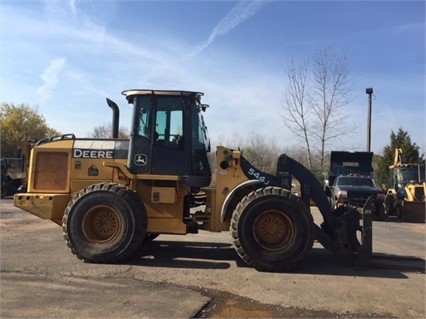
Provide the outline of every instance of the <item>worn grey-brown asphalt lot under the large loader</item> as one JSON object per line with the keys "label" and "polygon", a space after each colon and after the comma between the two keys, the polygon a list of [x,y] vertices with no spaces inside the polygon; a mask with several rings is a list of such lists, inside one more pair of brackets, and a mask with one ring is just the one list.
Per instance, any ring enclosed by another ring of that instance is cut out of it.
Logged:
{"label": "worn grey-brown asphalt lot under the large loader", "polygon": [[[258,272],[227,232],[161,235],[141,258],[99,265],[71,254],[58,225],[2,199],[0,317],[191,318],[210,309],[206,316],[424,318],[425,235],[425,224],[374,222],[366,269],[315,244],[294,273]],[[214,304],[215,295],[226,298]]]}

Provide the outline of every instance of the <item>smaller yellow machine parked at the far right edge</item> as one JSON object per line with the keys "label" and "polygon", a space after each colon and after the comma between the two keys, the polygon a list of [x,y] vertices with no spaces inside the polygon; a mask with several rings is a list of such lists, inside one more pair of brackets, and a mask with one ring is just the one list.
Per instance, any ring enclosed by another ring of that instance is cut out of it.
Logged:
{"label": "smaller yellow machine parked at the far right edge", "polygon": [[402,163],[402,149],[395,149],[394,163],[389,166],[392,174],[392,188],[385,197],[386,213],[407,222],[424,223],[425,206],[425,165],[424,163]]}

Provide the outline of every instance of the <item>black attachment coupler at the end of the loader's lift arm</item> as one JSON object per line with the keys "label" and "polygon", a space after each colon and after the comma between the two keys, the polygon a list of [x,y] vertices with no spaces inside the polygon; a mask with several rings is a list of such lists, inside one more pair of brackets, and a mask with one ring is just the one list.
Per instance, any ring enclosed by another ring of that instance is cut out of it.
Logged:
{"label": "black attachment coupler at the end of the loader's lift arm", "polygon": [[345,207],[334,228],[333,251],[356,267],[368,265],[373,254],[372,203],[370,197],[362,209]]}

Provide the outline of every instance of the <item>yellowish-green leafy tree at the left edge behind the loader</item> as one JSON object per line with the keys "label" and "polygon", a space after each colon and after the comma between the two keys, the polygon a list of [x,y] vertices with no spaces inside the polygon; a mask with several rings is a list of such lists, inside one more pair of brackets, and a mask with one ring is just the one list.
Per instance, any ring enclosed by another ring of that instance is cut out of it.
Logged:
{"label": "yellowish-green leafy tree at the left edge behind the loader", "polygon": [[24,140],[40,140],[60,133],[47,126],[44,117],[28,104],[1,102],[1,157],[17,157]]}

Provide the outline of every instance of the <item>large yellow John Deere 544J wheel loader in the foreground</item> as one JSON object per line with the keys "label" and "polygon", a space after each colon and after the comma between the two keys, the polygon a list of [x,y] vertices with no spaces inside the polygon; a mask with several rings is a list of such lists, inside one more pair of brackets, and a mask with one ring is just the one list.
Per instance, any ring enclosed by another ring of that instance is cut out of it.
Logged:
{"label": "large yellow John Deere 544J wheel loader in the foreground", "polygon": [[[216,149],[215,186],[200,92],[128,90],[130,140],[66,134],[31,150],[28,192],[14,203],[62,226],[66,244],[87,262],[135,257],[159,234],[230,231],[238,255],[262,271],[294,269],[314,240],[349,261],[371,257],[371,211],[331,211],[322,185],[283,154],[275,175],[253,167],[239,150]],[[301,184],[291,194],[292,178]],[[314,224],[310,200],[324,221]],[[360,239],[359,239],[360,238]]]}

